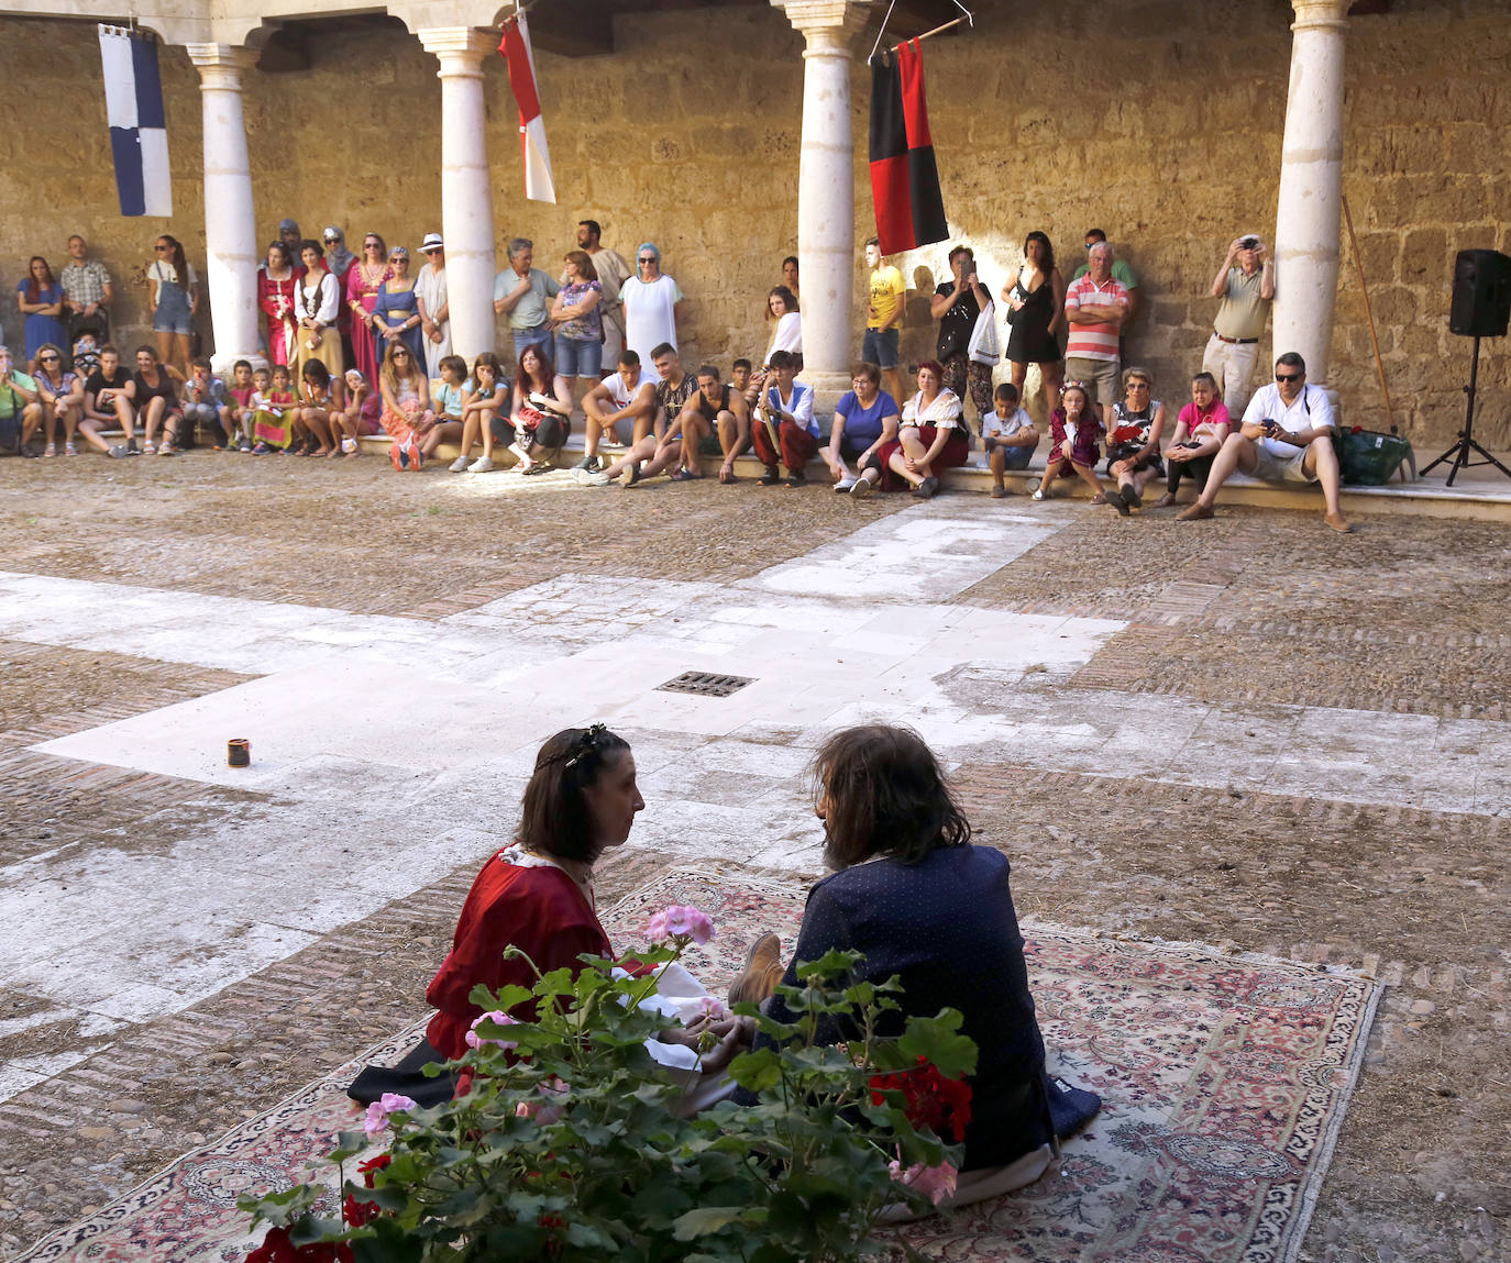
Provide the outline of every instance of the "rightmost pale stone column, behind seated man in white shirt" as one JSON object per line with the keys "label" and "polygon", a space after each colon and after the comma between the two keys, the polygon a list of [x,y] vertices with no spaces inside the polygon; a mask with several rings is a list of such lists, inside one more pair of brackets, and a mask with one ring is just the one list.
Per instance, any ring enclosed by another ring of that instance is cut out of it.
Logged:
{"label": "rightmost pale stone column, behind seated man in white shirt", "polygon": [[1275,213],[1275,355],[1324,385],[1342,249],[1343,41],[1349,0],[1292,0],[1290,95]]}

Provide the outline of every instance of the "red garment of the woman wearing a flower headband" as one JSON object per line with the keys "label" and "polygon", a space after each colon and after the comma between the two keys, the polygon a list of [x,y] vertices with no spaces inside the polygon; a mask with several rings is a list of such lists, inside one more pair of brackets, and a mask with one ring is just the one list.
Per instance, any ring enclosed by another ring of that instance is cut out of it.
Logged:
{"label": "red garment of the woman wearing a flower headband", "polygon": [[[425,991],[437,1009],[426,1027],[431,1047],[446,1058],[467,1051],[465,1036],[482,1014],[467,996],[479,982],[497,990],[509,984],[532,987],[535,973],[523,959],[503,959],[514,946],[529,953],[541,973],[567,967],[576,973],[577,956],[613,955],[598,917],[561,869],[523,869],[505,863],[499,851],[473,881],[456,922],[452,950]],[[533,1002],[518,1014],[533,1020]]]}

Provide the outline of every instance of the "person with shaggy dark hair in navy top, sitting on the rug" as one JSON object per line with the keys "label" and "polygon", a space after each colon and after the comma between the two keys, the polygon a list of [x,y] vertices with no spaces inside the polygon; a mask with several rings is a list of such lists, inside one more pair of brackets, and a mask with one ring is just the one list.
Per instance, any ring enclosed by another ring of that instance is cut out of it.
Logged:
{"label": "person with shaggy dark hair in navy top, sitting on the rug", "polygon": [[[1049,1166],[1056,1132],[1074,1130],[1100,1101],[1068,1085],[1052,1088],[1044,1077],[1044,1039],[1006,857],[970,845],[970,822],[932,751],[910,728],[846,728],[819,748],[813,766],[823,861],[836,872],[808,893],[793,964],[781,980],[798,985],[798,961],[855,950],[866,955],[855,982],[885,982],[893,974],[902,980],[902,1008],[882,1014],[882,1036],[901,1035],[908,1015],[958,1009],[978,1061],[955,1203],[1037,1180]],[[760,947],[752,955],[762,955]],[[768,1014],[784,1023],[801,1020],[781,996],[772,997]],[[757,1048],[763,1038],[757,1036]],[[840,1029],[819,1036],[820,1042],[846,1038]],[[1052,1091],[1059,1098],[1053,1115]]]}

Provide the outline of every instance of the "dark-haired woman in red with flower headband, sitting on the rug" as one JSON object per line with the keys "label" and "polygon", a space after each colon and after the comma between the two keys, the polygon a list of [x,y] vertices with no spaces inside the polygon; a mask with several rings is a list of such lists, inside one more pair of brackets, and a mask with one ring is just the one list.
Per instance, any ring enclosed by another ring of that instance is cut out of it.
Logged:
{"label": "dark-haired woman in red with flower headband, sitting on the rug", "polygon": [[[482,866],[462,903],[452,950],[425,991],[435,1009],[425,1039],[391,1070],[367,1067],[348,1095],[364,1104],[384,1092],[403,1092],[420,1104],[447,1100],[455,1077],[426,1079],[422,1070],[467,1053],[467,1032],[484,1012],[468,999],[479,982],[494,991],[533,987],[535,968],[576,974],[583,953],[613,956],[592,897],[592,866],[624,845],[644,808],[624,737],[601,724],[550,737],[524,787],[518,835]],[[523,956],[506,959],[508,947],[524,952],[533,967]],[[530,1021],[533,1009],[535,1002],[526,1000],[517,1015]],[[704,1055],[706,1076],[727,1065],[743,1039],[734,1020],[710,1029],[722,1042]],[[663,1030],[660,1039],[695,1047],[698,1035],[695,1027],[678,1027]]]}

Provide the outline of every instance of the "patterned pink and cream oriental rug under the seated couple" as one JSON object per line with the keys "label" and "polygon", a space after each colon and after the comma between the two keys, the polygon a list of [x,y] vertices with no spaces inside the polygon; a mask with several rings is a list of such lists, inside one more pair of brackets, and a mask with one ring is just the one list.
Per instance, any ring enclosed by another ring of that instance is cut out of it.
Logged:
{"label": "patterned pink and cream oriental rug under the seated couple", "polygon": [[[603,916],[616,947],[668,903],[716,937],[686,964],[721,991],[756,935],[790,949],[805,887],[716,864],[668,872]],[[1024,922],[1050,1068],[1103,1112],[1035,1184],[891,1230],[940,1260],[1293,1263],[1358,1077],[1380,988],[1318,965],[1200,944],[1098,937]],[[23,1260],[240,1263],[254,1240],[236,1200],[337,1178],[320,1159],[357,1126],[346,1085],[397,1062],[416,1023],[79,1224]],[[20,1263],[20,1260],[18,1260]]]}

